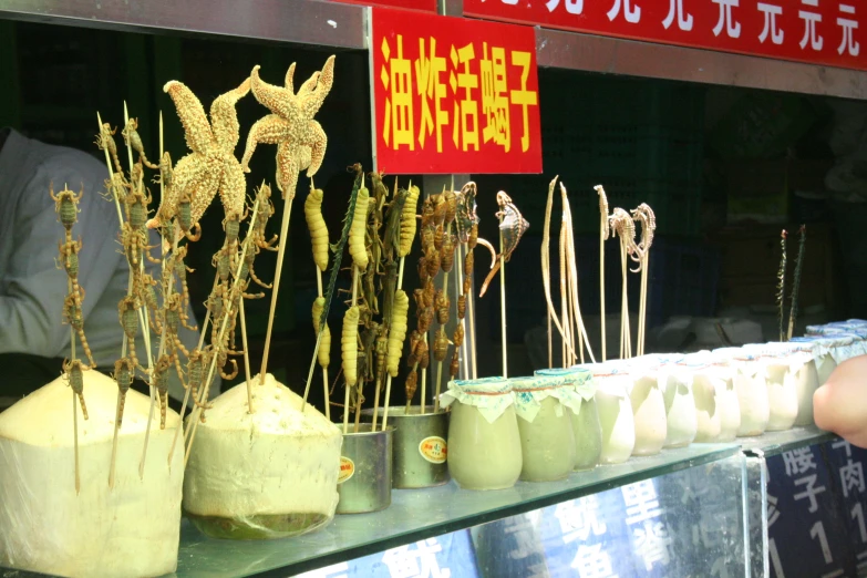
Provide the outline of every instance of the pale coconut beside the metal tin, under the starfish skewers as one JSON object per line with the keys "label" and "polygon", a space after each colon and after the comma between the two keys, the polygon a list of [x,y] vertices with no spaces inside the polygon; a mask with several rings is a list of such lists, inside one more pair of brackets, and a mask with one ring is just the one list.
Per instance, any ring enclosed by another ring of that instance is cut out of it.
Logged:
{"label": "pale coconut beside the metal tin, under the starfish skewers", "polygon": [[184,509],[206,534],[276,538],[334,515],[340,430],[267,374],[223,393],[198,424],[184,481]]}

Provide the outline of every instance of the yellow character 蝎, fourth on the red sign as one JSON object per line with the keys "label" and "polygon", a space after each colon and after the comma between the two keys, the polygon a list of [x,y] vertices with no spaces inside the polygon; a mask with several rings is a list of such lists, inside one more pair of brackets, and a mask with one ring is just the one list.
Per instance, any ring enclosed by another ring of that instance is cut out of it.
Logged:
{"label": "yellow character \u874e, fourth on the red sign", "polygon": [[482,114],[485,115],[482,137],[486,143],[493,140],[508,153],[512,148],[512,131],[505,49],[492,47],[491,58],[488,58],[487,42],[483,42],[481,69]]}

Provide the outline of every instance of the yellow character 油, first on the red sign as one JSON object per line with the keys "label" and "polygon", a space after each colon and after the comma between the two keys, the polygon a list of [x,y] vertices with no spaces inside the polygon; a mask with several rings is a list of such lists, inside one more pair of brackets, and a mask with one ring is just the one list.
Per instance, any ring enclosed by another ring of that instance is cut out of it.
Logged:
{"label": "yellow character \u6cb9, first on the red sign", "polygon": [[415,151],[412,112],[412,65],[403,58],[403,37],[398,34],[398,54],[391,58],[388,39],[382,39],[382,55],[385,65],[380,71],[382,85],[389,91],[385,99],[385,118],[382,137],[385,146],[395,151],[402,145]]}

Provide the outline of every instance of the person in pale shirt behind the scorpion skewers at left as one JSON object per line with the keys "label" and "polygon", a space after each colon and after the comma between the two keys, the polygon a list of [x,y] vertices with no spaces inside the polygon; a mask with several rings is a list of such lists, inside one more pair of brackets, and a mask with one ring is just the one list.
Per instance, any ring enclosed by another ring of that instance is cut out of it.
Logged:
{"label": "person in pale shirt behind the scorpion skewers at left", "polygon": [[[54,380],[70,354],[70,328],[61,323],[66,273],[56,265],[64,230],[49,196],[52,186],[55,193],[64,185],[84,192],[72,230],[82,241],[84,333],[100,371],[113,371],[121,355],[117,303],[126,296],[130,269],[118,240],[117,210],[101,194],[106,179],[105,165],[86,153],[0,131],[0,398],[20,398]],[[158,245],[158,235],[149,235],[149,245]],[[145,262],[159,279],[159,266]],[[187,314],[195,322],[192,309]],[[179,338],[187,349],[198,344],[197,332],[180,328]],[[144,364],[141,331],[135,349]],[[184,396],[174,372],[168,392],[175,400]],[[211,392],[219,392],[219,382]]]}

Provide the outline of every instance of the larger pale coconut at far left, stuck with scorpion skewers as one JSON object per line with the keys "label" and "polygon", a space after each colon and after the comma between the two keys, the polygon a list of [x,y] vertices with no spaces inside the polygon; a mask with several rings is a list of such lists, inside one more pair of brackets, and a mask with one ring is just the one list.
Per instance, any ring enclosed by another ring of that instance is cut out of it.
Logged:
{"label": "larger pale coconut at far left, stuck with scorpion skewers", "polygon": [[89,420],[79,412],[81,492],[75,493],[72,390],[58,378],[0,414],[0,566],[69,577],[148,577],[177,568],[183,450],[179,426],[154,412],[144,478],[138,475],[151,400],[130,391],[109,473],[117,385],[84,372]]}

